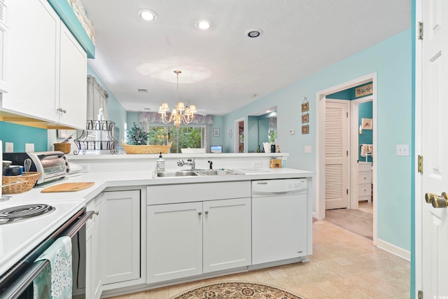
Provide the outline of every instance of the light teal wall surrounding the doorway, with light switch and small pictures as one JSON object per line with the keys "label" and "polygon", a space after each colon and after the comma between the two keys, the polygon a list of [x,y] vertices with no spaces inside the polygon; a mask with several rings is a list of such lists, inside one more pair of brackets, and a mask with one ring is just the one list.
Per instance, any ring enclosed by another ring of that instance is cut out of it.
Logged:
{"label": "light teal wall surrounding the doorway, with light switch and small pictures", "polygon": [[[316,92],[377,72],[378,230],[384,242],[411,249],[412,156],[398,157],[397,144],[412,144],[412,37],[411,29],[366,48],[301,81],[262,97],[224,116],[226,130],[235,120],[277,106],[277,141],[290,153],[287,167],[316,171]],[[300,104],[309,101],[309,134],[301,134]],[[289,134],[294,129],[295,134]],[[225,150],[233,151],[232,138]],[[304,153],[311,146],[312,153]]]}

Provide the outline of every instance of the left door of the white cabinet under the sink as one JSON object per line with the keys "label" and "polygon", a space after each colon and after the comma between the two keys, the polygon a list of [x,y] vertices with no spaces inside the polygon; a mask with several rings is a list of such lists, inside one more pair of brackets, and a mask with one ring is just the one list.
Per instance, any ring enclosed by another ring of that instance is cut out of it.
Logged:
{"label": "left door of the white cabinet under the sink", "polygon": [[202,274],[202,202],[147,209],[148,284]]}

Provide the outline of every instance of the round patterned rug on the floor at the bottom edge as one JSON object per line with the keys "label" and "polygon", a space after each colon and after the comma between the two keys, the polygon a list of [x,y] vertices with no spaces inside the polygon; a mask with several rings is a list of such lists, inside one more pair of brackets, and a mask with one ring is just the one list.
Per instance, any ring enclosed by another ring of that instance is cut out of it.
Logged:
{"label": "round patterned rug on the floor at the bottom edge", "polygon": [[251,282],[220,282],[200,286],[172,299],[304,299],[288,291]]}

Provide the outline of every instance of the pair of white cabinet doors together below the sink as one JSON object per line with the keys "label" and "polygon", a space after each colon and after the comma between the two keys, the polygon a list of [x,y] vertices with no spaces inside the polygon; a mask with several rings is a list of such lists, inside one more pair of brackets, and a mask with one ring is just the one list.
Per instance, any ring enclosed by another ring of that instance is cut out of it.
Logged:
{"label": "pair of white cabinet doors together below the sink", "polygon": [[148,284],[251,264],[251,198],[148,206]]}

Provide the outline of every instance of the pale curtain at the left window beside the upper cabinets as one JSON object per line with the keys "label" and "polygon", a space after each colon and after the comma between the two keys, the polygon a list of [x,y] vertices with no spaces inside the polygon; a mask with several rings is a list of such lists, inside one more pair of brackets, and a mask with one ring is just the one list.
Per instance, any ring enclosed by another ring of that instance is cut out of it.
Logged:
{"label": "pale curtain at the left window beside the upper cabinets", "polygon": [[109,93],[99,85],[97,79],[87,76],[87,120],[109,120],[107,103]]}

